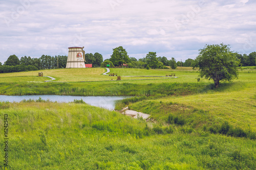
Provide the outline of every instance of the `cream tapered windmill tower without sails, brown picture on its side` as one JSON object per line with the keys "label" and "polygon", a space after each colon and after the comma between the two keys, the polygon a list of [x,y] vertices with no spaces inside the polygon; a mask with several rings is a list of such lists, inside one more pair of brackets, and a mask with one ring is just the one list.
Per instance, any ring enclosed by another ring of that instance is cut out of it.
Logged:
{"label": "cream tapered windmill tower without sails, brown picture on its side", "polygon": [[83,47],[69,47],[69,55],[66,68],[86,68],[84,65],[85,52]]}

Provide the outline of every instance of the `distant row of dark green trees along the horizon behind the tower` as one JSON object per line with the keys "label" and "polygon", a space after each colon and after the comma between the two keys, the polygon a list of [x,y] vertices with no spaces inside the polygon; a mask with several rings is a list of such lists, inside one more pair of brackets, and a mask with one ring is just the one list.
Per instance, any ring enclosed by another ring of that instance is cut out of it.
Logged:
{"label": "distant row of dark green trees along the horizon behind the tower", "polygon": [[[256,52],[247,54],[236,54],[236,58],[240,61],[239,66],[255,66],[256,65]],[[0,62],[1,72],[18,72],[18,71],[31,71],[40,69],[56,69],[66,68],[67,56],[48,56],[42,55],[40,58],[31,58],[30,56],[21,57],[20,60],[16,55],[11,55],[7,61],[2,65]],[[170,66],[172,69],[176,69],[177,66],[193,67],[195,60],[187,59],[185,62],[176,61],[174,57],[168,60],[166,57],[157,57],[156,52],[148,52],[145,57],[136,59],[129,57],[126,50],[122,47],[116,47],[113,49],[113,54],[110,59],[106,59],[103,62],[103,57],[99,53],[88,53],[85,55],[86,64],[93,64],[93,67],[120,67],[123,64],[127,64],[129,68],[160,68],[166,69]]]}

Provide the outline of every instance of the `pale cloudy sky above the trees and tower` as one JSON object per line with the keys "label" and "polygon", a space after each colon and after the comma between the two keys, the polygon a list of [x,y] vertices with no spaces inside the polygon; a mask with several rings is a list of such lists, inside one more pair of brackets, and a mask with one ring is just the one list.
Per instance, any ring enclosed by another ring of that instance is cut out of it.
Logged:
{"label": "pale cloudy sky above the trees and tower", "polygon": [[148,52],[195,59],[206,44],[256,51],[254,0],[0,0],[0,62],[10,55],[68,55],[68,47],[110,58]]}

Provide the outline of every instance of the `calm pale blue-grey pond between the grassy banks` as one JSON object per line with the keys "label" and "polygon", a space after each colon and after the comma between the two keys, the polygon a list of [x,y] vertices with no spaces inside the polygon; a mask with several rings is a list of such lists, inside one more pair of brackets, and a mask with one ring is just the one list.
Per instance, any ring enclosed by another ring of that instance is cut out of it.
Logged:
{"label": "calm pale blue-grey pond between the grassy banks", "polygon": [[72,95],[0,95],[0,101],[21,102],[22,100],[50,100],[58,103],[74,102],[83,100],[89,105],[102,107],[109,110],[114,110],[117,101],[129,98],[129,96],[72,96]]}

